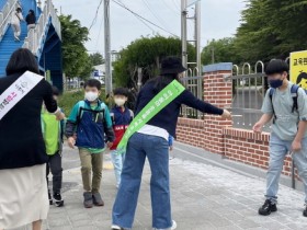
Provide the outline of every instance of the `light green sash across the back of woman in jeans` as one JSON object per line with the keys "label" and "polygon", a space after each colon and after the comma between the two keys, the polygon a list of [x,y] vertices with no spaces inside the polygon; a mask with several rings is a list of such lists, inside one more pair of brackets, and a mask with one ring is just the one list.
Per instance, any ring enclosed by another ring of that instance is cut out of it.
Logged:
{"label": "light green sash across the back of woman in jeans", "polygon": [[129,138],[154,116],[156,116],[162,108],[164,108],[175,97],[178,97],[184,90],[185,89],[181,83],[179,83],[177,80],[173,80],[161,92],[159,92],[134,118],[123,139],[117,146],[117,152],[124,153],[126,151]]}

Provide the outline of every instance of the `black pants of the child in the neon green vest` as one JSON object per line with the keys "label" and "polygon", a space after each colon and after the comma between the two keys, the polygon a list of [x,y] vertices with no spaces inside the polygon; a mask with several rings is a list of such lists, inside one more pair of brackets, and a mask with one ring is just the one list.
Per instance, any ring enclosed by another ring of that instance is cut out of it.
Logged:
{"label": "black pants of the child in the neon green vest", "polygon": [[54,156],[49,156],[47,162],[47,184],[49,183],[49,172],[53,174],[53,192],[54,194],[60,193],[61,181],[62,181],[62,169],[61,169],[61,156],[57,152]]}

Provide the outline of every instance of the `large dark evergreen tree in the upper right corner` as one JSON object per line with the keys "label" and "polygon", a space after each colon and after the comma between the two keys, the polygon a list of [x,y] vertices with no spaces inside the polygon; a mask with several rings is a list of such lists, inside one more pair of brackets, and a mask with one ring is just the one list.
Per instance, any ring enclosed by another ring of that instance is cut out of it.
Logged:
{"label": "large dark evergreen tree in the upper right corner", "polygon": [[286,58],[307,48],[306,0],[249,0],[235,47],[241,59]]}

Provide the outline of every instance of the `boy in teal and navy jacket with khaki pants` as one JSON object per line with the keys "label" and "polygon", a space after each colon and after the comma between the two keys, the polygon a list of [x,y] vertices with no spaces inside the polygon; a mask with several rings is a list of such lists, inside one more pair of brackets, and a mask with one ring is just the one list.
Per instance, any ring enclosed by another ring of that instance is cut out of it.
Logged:
{"label": "boy in teal and navy jacket with khaki pants", "polygon": [[[67,120],[66,136],[70,148],[79,149],[86,208],[104,206],[100,194],[102,161],[105,143],[114,141],[112,120],[107,106],[99,100],[101,83],[90,79],[84,83],[84,100],[78,102]],[[77,139],[76,139],[77,135]],[[104,138],[106,136],[106,138]],[[93,175],[92,175],[93,173]]]}

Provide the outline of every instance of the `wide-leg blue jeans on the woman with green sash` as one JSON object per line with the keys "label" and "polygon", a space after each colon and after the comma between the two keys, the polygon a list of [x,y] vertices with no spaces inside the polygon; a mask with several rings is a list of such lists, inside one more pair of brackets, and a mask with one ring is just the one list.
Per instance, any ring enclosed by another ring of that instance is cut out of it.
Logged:
{"label": "wide-leg blue jeans on the woman with green sash", "polygon": [[151,169],[152,227],[168,229],[172,226],[169,145],[161,137],[138,133],[134,134],[128,141],[122,183],[113,207],[113,225],[128,229],[133,227],[146,157]]}

